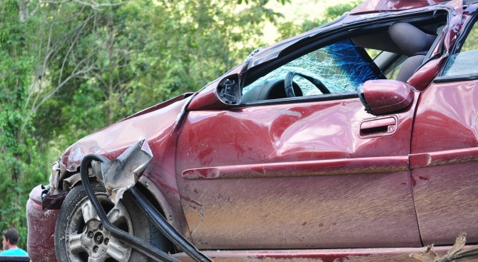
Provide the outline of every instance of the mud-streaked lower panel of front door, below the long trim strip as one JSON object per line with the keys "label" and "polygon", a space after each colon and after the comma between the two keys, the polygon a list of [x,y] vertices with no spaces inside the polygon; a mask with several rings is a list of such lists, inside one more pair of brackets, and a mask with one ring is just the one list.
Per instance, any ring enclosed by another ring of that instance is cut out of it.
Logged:
{"label": "mud-streaked lower panel of front door, below the long trim strip", "polygon": [[198,248],[420,246],[408,172],[188,182]]}

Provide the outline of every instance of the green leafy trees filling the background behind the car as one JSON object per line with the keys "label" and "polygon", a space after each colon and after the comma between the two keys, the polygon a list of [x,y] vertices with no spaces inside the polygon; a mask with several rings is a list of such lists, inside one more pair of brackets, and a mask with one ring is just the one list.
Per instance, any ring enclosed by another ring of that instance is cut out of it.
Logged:
{"label": "green leafy trees filling the background behind the car", "polygon": [[266,22],[285,37],[326,21],[283,23],[268,1],[0,1],[0,228],[25,247],[29,191],[78,138],[197,91],[263,45]]}

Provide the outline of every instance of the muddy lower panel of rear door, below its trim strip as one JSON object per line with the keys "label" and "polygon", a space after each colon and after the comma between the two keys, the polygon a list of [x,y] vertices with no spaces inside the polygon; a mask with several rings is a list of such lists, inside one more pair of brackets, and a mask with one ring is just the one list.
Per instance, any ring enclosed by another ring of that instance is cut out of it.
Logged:
{"label": "muddy lower panel of rear door, below its trim strip", "polygon": [[424,245],[451,245],[461,232],[478,243],[478,162],[412,170],[414,198]]}

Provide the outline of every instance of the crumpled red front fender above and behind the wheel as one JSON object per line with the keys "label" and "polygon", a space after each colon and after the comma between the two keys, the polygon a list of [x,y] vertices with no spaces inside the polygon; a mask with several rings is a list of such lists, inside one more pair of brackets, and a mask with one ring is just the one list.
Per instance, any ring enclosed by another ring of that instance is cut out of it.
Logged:
{"label": "crumpled red front fender above and behind the wheel", "polygon": [[174,157],[177,138],[175,130],[180,125],[180,117],[188,101],[190,99],[176,101],[162,109],[126,119],[86,136],[66,150],[61,157],[61,164],[69,171],[76,171],[83,156],[88,153],[115,159],[138,138],[146,138],[153,158],[143,173],[147,179],[141,179],[140,183],[143,182],[148,191],[156,192],[153,193],[156,201],[173,222],[173,226],[184,235],[188,231],[180,229],[183,228],[180,225],[185,225],[185,218],[179,204]]}

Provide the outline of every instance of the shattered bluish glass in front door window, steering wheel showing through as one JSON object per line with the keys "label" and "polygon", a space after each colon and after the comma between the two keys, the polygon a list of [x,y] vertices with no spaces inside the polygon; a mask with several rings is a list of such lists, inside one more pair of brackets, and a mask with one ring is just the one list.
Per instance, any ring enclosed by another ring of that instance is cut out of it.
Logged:
{"label": "shattered bluish glass in front door window, steering wheel showing through", "polygon": [[383,77],[365,49],[346,39],[300,56],[245,86],[242,101],[345,93]]}

